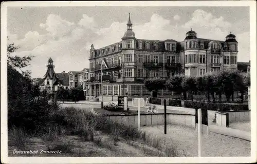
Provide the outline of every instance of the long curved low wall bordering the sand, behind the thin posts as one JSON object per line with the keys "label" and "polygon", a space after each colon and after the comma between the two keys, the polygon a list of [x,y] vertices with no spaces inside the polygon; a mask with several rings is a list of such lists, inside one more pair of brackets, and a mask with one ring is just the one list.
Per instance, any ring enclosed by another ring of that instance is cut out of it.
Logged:
{"label": "long curved low wall bordering the sand, behind the thin posts", "polygon": [[[138,126],[138,115],[104,115],[109,119],[128,126]],[[140,126],[163,125],[164,114],[141,114]],[[195,128],[195,115],[192,114],[171,114],[167,113],[167,124],[182,125]]]}

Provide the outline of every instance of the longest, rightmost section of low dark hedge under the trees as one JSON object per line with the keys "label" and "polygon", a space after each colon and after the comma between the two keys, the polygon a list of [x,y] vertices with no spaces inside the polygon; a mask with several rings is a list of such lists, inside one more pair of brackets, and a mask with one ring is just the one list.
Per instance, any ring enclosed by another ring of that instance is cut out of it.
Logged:
{"label": "longest, rightmost section of low dark hedge under the trees", "polygon": [[234,111],[242,111],[242,110],[249,110],[248,105],[243,104],[221,104],[221,103],[205,103],[205,102],[199,102],[199,101],[185,101],[185,107],[186,108],[201,108],[201,109],[207,109],[212,111],[217,111],[219,109],[220,111],[229,111],[230,109]]}

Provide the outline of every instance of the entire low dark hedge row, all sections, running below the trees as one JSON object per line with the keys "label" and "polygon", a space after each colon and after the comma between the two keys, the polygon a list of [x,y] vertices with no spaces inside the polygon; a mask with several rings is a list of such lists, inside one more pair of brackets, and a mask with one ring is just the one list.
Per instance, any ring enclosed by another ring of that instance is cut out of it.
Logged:
{"label": "entire low dark hedge row, all sections, running below the trees", "polygon": [[[152,98],[150,97],[149,103],[162,105],[162,98]],[[167,98],[167,106],[174,106],[174,107],[181,107],[181,100],[176,99],[168,99]],[[242,110],[249,110],[248,105],[245,104],[221,104],[221,103],[206,103],[206,102],[198,102],[198,101],[184,101],[183,107],[186,108],[201,108],[207,109],[212,111],[242,111]]]}

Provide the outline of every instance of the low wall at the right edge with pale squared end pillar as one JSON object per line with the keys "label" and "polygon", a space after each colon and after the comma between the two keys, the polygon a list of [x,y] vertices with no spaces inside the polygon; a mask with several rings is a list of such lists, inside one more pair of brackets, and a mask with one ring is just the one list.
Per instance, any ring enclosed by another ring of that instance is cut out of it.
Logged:
{"label": "low wall at the right edge with pale squared end pillar", "polygon": [[216,124],[222,127],[229,127],[229,122],[250,121],[251,111],[224,111],[216,112]]}

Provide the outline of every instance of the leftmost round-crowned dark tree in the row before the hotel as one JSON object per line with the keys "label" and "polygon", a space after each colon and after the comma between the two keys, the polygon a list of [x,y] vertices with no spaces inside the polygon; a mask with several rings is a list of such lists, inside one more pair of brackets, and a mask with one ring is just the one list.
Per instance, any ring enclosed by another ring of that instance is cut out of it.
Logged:
{"label": "leftmost round-crowned dark tree in the row before the hotel", "polygon": [[[155,95],[159,90],[164,89],[166,86],[166,79],[164,78],[148,78],[144,80],[144,86],[149,90],[155,92]],[[156,94],[157,95],[157,94]]]}

